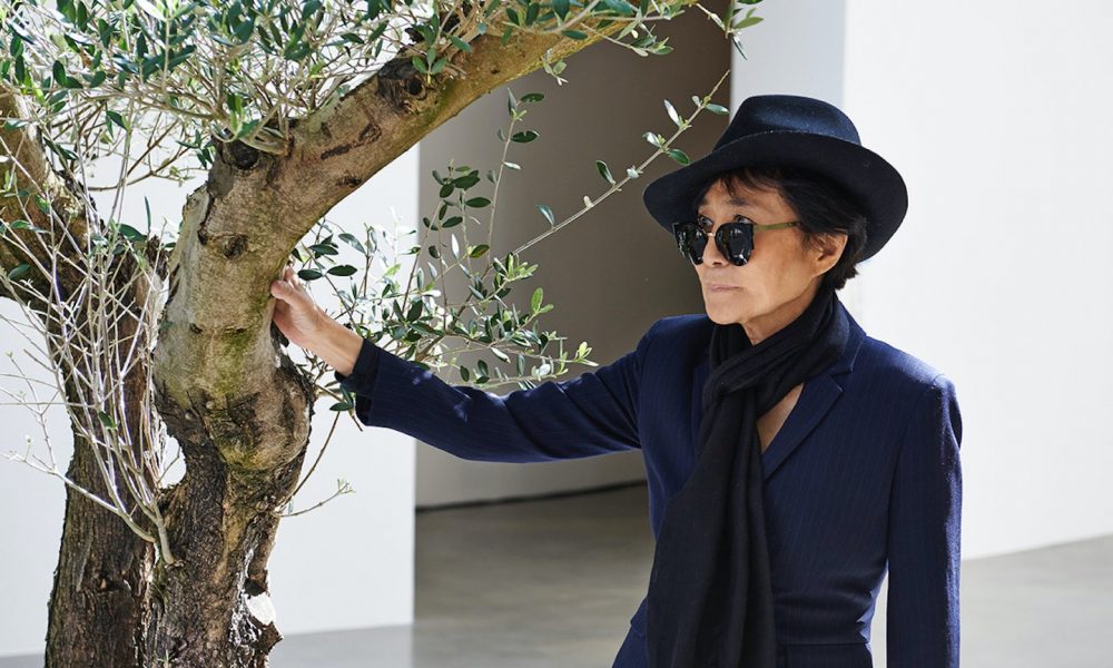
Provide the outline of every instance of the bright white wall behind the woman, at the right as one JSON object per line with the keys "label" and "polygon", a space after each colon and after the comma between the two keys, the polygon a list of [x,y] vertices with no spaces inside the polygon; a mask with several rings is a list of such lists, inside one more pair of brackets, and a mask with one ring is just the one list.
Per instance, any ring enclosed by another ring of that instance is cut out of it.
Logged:
{"label": "bright white wall behind the woman, at the right", "polygon": [[848,0],[845,102],[909,184],[864,326],[954,380],[964,556],[1113,532],[1107,3]]}

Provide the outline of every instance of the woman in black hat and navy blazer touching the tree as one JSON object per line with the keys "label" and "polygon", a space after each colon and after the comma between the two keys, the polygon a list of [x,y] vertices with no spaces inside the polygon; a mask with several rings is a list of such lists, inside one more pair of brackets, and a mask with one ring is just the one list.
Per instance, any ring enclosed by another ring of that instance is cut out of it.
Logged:
{"label": "woman in black hat and navy blazer touching the tree", "polygon": [[289,268],[275,322],[364,424],[472,460],[642,450],[657,546],[615,668],[869,667],[886,572],[888,665],[957,667],[955,387],[835,294],[900,225],[899,174],[834,106],[756,96],[644,203],[707,315],[661,318],[572,380],[449,385],[325,316]]}

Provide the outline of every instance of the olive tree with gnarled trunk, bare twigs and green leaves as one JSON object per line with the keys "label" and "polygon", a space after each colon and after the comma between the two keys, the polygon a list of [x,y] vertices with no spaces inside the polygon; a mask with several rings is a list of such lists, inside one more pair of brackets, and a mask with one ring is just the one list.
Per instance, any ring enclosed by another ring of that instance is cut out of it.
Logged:
{"label": "olive tree with gnarled trunk, bare twigs and green leaves", "polygon": [[[725,16],[695,0],[0,1],[0,295],[22,307],[11,324],[30,345],[13,357],[26,390],[4,392],[45,436],[11,458],[67,492],[47,665],[267,665],[282,638],[267,560],[313,471],[314,405],[332,397],[339,419],[354,403],[272,326],[269,284],[287,263],[328,282],[359,334],[463,382],[528,387],[590,364],[585,343],[569,356],[539,327],[540,287],[528,310],[508,305],[535,268],[520,254],[656,157],[687,163],[677,136],[705,109],[726,114],[711,94],[664,100],[674,127],[644,132],[644,163],[615,178],[597,161],[603,191],[560,222],[539,205],[549,229],[505,254],[490,233],[500,177],[521,168],[506,151],[485,173],[432,173],[441,203],[415,222],[421,238],[326,215],[503,84],[541,68],[559,78],[565,57],[603,40],[668,53],[653,21],[689,9],[740,48],[756,1]],[[536,137],[519,124],[541,99],[509,96],[508,150]],[[175,228],[121,219],[137,181],[198,177]],[[450,299],[456,272],[467,293]],[[456,364],[465,350],[490,364]],[[32,382],[28,362],[53,382]],[[42,420],[55,406],[73,439],[65,468]]]}

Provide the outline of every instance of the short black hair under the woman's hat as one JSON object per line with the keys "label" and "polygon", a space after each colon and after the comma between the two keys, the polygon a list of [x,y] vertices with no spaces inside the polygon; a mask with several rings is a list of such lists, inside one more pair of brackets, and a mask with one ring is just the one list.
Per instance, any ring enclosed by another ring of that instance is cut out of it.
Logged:
{"label": "short black hair under the woman's hat", "polygon": [[858,257],[866,247],[867,218],[846,189],[830,178],[787,165],[746,166],[717,174],[707,180],[692,199],[692,212],[699,210],[703,195],[721,181],[731,195],[738,195],[735,184],[758,190],[774,190],[788,203],[800,220],[804,243],[821,247],[827,237],[847,236],[843,255],[823,276],[824,285],[841,289],[858,275]]}

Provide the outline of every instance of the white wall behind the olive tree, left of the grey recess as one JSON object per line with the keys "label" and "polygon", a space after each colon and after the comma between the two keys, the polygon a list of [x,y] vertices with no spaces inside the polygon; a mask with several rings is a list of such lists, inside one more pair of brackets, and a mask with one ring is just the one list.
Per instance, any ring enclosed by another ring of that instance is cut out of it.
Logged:
{"label": "white wall behind the olive tree, left of the grey recess", "polygon": [[[329,219],[357,236],[362,236],[357,224],[368,216],[380,225],[392,225],[396,214],[403,225],[413,227],[416,175],[417,149],[413,148],[341,203]],[[147,195],[155,227],[164,216],[176,222],[193,187],[179,189],[165,181],[134,186],[122,218],[145,229],[142,198]],[[100,205],[107,212],[110,203]],[[168,227],[176,228],[177,223]],[[317,297],[326,308],[332,306],[322,294]],[[9,301],[0,301],[0,310],[8,317],[21,318]],[[0,352],[12,351],[22,362],[24,347],[18,333],[0,325]],[[43,375],[36,373],[41,370],[21,365],[36,377]],[[6,356],[0,356],[0,372],[16,373]],[[14,392],[21,386],[0,376],[0,387]],[[7,395],[3,401],[0,419],[8,425],[8,439],[0,452],[22,452],[24,434],[41,444],[32,413],[9,405]],[[328,433],[332,403],[326,397],[316,406],[307,461]],[[48,428],[65,470],[72,439],[63,411],[49,415]],[[40,453],[46,456],[45,451]],[[413,439],[377,428],[359,432],[352,421],[342,420],[317,472],[295,499],[295,510],[328,497],[336,490],[337,478],[347,480],[356,493],[289,518],[278,532],[270,584],[278,626],[287,635],[413,621]],[[0,459],[0,656],[42,651],[63,501],[61,483]]]}

